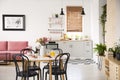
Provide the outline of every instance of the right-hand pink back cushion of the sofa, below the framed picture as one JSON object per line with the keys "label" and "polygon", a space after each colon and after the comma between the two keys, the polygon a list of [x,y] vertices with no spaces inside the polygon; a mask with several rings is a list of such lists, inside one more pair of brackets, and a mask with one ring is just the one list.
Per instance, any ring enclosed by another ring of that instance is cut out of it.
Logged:
{"label": "right-hand pink back cushion of the sofa, below the framed picture", "polygon": [[28,47],[28,41],[8,41],[8,51],[20,51]]}

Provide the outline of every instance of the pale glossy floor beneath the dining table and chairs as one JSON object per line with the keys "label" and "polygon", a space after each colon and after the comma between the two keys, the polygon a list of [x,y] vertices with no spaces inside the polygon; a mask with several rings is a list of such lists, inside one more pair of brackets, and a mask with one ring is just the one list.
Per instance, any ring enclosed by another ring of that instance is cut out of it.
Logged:
{"label": "pale glossy floor beneath the dining table and chairs", "polygon": [[[43,66],[42,64],[41,66]],[[54,78],[54,77],[53,77]],[[30,80],[32,80],[31,78]],[[0,80],[15,80],[14,64],[0,65]],[[20,80],[20,79],[19,79]],[[94,64],[68,64],[68,80],[105,80],[103,73]]]}

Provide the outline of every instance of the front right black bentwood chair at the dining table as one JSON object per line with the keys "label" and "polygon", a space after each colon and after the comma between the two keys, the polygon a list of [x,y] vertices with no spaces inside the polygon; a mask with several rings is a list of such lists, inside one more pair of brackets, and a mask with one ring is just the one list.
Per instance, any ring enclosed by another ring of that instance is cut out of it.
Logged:
{"label": "front right black bentwood chair at the dining table", "polygon": [[[70,58],[69,53],[63,53],[56,56],[54,66],[59,66],[59,67],[52,68],[52,75],[55,75],[55,80],[58,80],[58,76],[60,76],[61,78],[62,75],[65,75],[67,80],[67,63],[69,58]],[[45,74],[45,80],[47,80],[47,74],[49,74],[49,69]]]}

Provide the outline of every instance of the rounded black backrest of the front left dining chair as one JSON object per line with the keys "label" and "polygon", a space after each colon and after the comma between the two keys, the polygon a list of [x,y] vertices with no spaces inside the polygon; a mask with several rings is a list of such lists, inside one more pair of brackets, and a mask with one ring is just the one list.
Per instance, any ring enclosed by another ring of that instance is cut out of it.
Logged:
{"label": "rounded black backrest of the front left dining chair", "polygon": [[[23,71],[29,71],[27,66],[29,66],[29,59],[27,56],[25,56],[24,54],[14,54],[12,56],[13,61],[15,63],[15,68],[16,68],[16,73],[19,74],[19,72]],[[20,59],[20,61],[18,61],[17,59]],[[21,68],[22,67],[22,68]]]}

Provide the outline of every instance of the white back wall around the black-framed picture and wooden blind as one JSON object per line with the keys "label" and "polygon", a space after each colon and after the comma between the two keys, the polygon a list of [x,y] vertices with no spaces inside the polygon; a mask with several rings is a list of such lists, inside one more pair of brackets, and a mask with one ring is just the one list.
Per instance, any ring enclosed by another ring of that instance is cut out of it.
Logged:
{"label": "white back wall around the black-framed picture and wooden blind", "polygon": [[[42,36],[49,36],[48,18],[52,14],[64,11],[66,6],[81,6],[84,3],[85,13],[83,34],[91,36],[90,0],[0,0],[0,40],[28,40],[30,45]],[[24,14],[25,31],[3,31],[3,14]]]}

